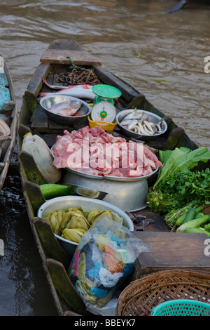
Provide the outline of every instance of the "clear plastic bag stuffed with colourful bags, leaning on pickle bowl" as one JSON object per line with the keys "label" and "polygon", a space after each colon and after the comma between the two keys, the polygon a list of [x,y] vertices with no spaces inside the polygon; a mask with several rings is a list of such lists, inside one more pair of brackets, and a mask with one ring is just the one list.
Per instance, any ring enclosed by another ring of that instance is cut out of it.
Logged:
{"label": "clear plastic bag stuffed with colourful bags, leaning on pickle bowl", "polygon": [[87,309],[102,308],[134,271],[134,261],[148,246],[122,223],[107,216],[85,232],[71,260],[69,277]]}

